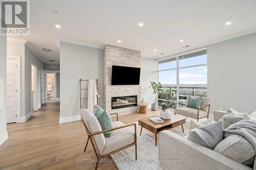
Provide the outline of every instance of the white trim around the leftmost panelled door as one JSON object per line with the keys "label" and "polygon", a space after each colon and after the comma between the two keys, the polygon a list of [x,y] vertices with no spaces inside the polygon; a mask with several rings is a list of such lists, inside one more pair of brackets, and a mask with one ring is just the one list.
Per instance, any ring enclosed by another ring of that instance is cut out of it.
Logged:
{"label": "white trim around the leftmost panelled door", "polygon": [[20,112],[21,112],[21,92],[20,92],[21,69],[20,69],[20,60],[21,60],[21,57],[7,55],[7,59],[16,59],[17,60],[17,118],[16,118],[16,122],[19,123],[19,122],[22,122],[22,120],[20,118]]}

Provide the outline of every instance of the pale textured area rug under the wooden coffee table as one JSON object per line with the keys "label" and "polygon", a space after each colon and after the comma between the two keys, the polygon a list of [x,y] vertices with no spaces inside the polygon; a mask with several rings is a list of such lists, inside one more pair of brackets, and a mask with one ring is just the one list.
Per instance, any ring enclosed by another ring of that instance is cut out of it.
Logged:
{"label": "pale textured area rug under the wooden coffee table", "polygon": [[[181,126],[170,129],[169,131],[180,136],[188,134],[189,123],[184,125],[184,133]],[[119,170],[126,169],[162,169],[158,162],[158,146],[155,144],[155,134],[143,128],[141,135],[140,126],[137,124],[137,150],[138,160],[135,160],[135,148],[130,147],[123,151],[111,155]]]}

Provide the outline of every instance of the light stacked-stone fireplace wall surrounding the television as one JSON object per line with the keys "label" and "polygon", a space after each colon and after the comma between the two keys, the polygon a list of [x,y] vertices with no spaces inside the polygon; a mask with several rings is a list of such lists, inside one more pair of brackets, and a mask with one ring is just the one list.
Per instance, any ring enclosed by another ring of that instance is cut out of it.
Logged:
{"label": "light stacked-stone fireplace wall surrounding the television", "polygon": [[140,52],[113,45],[105,45],[103,51],[103,107],[109,113],[128,114],[139,111],[139,106],[111,110],[111,98],[138,95],[141,100],[140,85],[111,85],[112,65],[140,67]]}

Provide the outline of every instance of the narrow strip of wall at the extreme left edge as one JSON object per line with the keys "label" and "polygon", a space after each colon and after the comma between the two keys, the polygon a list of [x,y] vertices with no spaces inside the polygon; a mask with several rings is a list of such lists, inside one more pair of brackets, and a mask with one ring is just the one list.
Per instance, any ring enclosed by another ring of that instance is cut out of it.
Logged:
{"label": "narrow strip of wall at the extreme left edge", "polygon": [[[0,19],[1,21],[1,19]],[[6,128],[6,36],[0,36],[0,77],[4,78],[3,94],[0,91],[0,145],[7,139]],[[2,87],[0,87],[2,88]],[[1,89],[0,89],[1,90]]]}

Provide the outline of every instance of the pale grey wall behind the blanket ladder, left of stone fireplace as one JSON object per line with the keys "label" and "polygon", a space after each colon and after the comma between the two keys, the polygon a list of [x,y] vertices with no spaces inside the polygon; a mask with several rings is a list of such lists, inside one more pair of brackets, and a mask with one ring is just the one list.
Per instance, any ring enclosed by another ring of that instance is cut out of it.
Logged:
{"label": "pale grey wall behind the blanket ladder, left of stone fireplace", "polygon": [[60,117],[80,114],[79,79],[98,79],[99,105],[102,105],[102,49],[60,42],[60,65]]}

